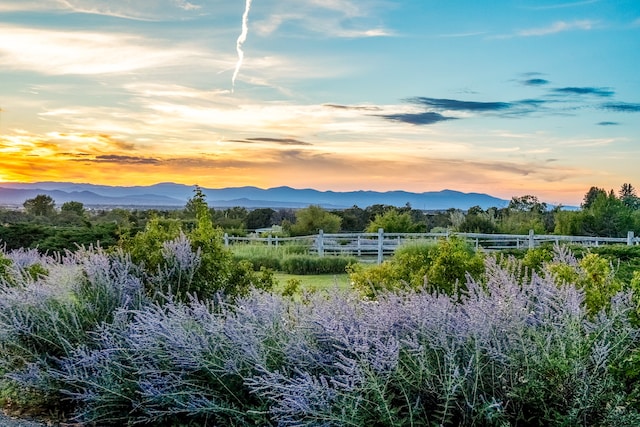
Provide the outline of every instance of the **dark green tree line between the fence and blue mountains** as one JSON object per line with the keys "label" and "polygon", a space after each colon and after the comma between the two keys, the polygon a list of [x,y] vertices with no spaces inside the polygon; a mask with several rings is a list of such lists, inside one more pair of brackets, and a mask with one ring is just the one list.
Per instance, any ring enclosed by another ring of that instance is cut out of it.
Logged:
{"label": "dark green tree line between the fence and blue mountains", "polygon": [[[103,247],[116,246],[144,230],[152,219],[179,221],[186,229],[194,227],[203,200],[204,194],[196,187],[183,209],[88,210],[77,201],[57,208],[50,196],[38,195],[24,202],[24,210],[0,209],[0,241],[8,249],[37,247],[42,251],[74,249],[96,242]],[[375,204],[333,210],[317,205],[303,209],[210,207],[209,214],[215,226],[233,235],[261,229],[296,236],[315,234],[321,229],[338,233],[375,232],[379,228],[391,233],[449,230],[527,234],[534,230],[536,234],[600,237],[624,237],[628,231],[640,234],[640,198],[628,183],[617,193],[591,187],[576,210],[549,207],[536,196],[524,195],[513,197],[506,207],[473,206],[467,211],[424,211],[407,203],[402,207]]]}

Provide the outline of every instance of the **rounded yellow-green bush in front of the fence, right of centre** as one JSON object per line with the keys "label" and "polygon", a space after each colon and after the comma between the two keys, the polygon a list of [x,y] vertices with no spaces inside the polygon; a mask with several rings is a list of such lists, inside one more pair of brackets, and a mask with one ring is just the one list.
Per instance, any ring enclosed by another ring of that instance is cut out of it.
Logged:
{"label": "rounded yellow-green bush in front of the fence, right of centre", "polygon": [[352,266],[349,273],[354,287],[374,298],[383,291],[403,289],[452,295],[464,287],[467,274],[477,277],[483,271],[482,255],[464,240],[452,237],[403,246],[390,260],[371,268]]}

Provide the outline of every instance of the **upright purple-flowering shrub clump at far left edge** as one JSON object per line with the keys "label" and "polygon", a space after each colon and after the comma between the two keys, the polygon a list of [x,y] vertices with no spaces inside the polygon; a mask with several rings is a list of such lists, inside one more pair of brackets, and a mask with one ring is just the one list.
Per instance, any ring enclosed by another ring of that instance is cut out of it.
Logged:
{"label": "upright purple-flowering shrub clump at far left edge", "polygon": [[[60,384],[52,373],[60,360],[110,323],[119,308],[140,307],[142,284],[123,253],[79,249],[54,260],[35,251],[12,251],[14,280],[0,283],[0,399],[59,409]],[[23,274],[46,265],[47,274]]]}

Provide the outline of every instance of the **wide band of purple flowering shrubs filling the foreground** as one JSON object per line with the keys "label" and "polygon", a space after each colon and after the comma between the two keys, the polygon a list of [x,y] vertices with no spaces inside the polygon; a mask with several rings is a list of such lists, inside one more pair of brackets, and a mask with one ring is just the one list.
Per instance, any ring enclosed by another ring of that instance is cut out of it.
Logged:
{"label": "wide band of purple flowering shrubs filling the foreground", "polygon": [[[166,268],[152,272],[87,249],[2,284],[2,386],[63,399],[98,425],[640,422],[623,380],[640,348],[630,293],[594,312],[546,266],[486,257],[454,295],[254,289],[201,300],[172,294],[195,280],[198,253],[182,237],[163,250]],[[573,259],[558,250],[553,262]]]}

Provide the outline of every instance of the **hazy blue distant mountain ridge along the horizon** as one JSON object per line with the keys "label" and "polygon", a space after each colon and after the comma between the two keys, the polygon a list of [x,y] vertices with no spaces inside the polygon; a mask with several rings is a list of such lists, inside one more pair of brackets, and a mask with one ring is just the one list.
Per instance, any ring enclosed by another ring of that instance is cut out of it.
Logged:
{"label": "hazy blue distant mountain ridge along the horizon", "polygon": [[[107,186],[77,184],[69,182],[1,183],[0,205],[22,205],[25,200],[38,194],[53,198],[59,206],[65,202],[77,201],[87,206],[121,207],[167,207],[184,206],[193,196],[194,186],[159,183],[149,186]],[[375,204],[405,206],[409,203],[415,209],[442,210],[449,208],[466,210],[472,206],[483,209],[505,207],[508,201],[484,193],[463,193],[454,190],[412,193],[408,191],[319,191],[275,187],[204,188],[210,206],[226,208],[242,206],[246,208],[303,208],[320,205],[328,209],[344,209],[351,206],[365,208]]]}

